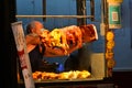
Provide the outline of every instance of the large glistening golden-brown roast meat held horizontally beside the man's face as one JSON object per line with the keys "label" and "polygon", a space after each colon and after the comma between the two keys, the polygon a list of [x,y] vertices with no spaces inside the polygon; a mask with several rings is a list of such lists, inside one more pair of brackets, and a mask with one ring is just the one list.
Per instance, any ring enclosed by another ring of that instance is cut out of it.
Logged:
{"label": "large glistening golden-brown roast meat held horizontally beside the man's face", "polygon": [[44,30],[41,37],[42,44],[45,46],[45,55],[51,53],[54,56],[63,56],[82,47],[84,43],[98,40],[98,34],[94,24],[86,24],[70,25],[52,31]]}

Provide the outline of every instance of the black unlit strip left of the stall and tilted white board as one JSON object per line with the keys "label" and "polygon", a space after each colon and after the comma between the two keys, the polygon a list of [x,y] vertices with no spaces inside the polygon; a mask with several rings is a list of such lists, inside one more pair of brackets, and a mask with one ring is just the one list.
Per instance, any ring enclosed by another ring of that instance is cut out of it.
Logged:
{"label": "black unlit strip left of the stall and tilted white board", "polygon": [[15,0],[0,1],[0,88],[16,86],[16,51],[10,23],[15,22]]}

